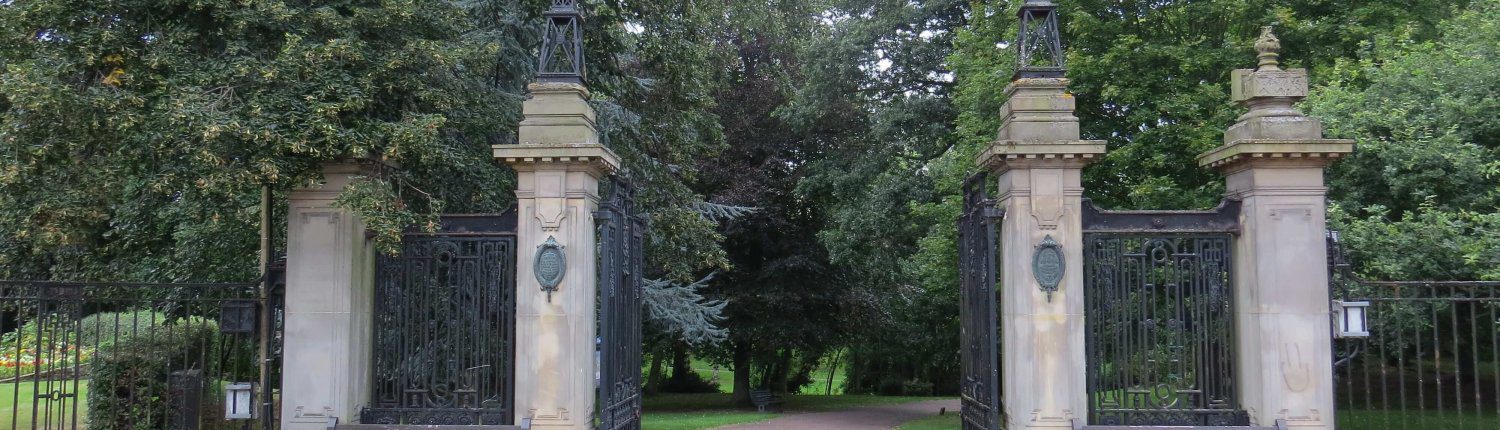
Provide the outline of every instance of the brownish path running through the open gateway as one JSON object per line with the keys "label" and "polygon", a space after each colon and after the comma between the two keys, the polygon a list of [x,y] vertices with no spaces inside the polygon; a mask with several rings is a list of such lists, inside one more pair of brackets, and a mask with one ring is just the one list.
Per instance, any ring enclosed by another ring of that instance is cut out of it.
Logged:
{"label": "brownish path running through the open gateway", "polygon": [[714,430],[890,430],[912,420],[938,415],[942,408],[948,408],[948,414],[958,414],[958,399],[788,414],[770,421],[724,426]]}

